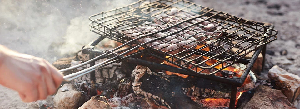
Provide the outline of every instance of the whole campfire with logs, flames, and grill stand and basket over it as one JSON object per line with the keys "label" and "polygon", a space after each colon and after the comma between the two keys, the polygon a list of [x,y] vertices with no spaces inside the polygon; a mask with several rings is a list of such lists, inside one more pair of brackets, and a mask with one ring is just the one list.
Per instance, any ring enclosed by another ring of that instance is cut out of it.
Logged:
{"label": "whole campfire with logs, flames, and grill stand and basket over it", "polygon": [[[81,92],[81,108],[235,108],[256,87],[255,60],[277,38],[272,25],[185,0],[138,1],[90,20],[100,36],[59,60],[68,68],[54,63],[75,79],[60,94]],[[105,38],[112,49],[95,47]]]}

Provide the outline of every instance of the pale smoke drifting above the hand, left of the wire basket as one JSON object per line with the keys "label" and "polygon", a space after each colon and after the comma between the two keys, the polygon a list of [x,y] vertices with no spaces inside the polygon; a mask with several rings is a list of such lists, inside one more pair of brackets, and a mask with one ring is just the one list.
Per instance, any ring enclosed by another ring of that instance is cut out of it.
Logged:
{"label": "pale smoke drifting above the hand, left of the wire basket", "polygon": [[53,62],[72,54],[98,35],[90,15],[136,0],[0,0],[0,44]]}

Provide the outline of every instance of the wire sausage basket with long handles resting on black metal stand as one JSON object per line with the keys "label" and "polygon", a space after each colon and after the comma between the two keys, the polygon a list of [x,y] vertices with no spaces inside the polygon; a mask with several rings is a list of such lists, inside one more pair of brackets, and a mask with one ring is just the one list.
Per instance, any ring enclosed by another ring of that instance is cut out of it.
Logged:
{"label": "wire sausage basket with long handles resting on black metal stand", "polygon": [[[271,24],[185,0],[142,0],[92,15],[90,20],[91,31],[100,35],[82,49],[90,60],[60,71],[89,64],[91,67],[64,79],[70,81],[90,73],[92,95],[96,95],[95,70],[122,61],[197,78],[202,87],[215,91],[223,88],[223,92],[230,92],[230,108],[235,108],[237,96],[242,94],[237,87],[249,82],[247,78],[251,78],[249,73],[259,53],[264,54],[266,44],[277,39]],[[123,45],[104,52],[95,50],[94,46],[104,38]],[[249,53],[253,53],[252,58],[246,59]],[[103,58],[107,60],[95,65]],[[239,63],[247,66],[239,69]]]}

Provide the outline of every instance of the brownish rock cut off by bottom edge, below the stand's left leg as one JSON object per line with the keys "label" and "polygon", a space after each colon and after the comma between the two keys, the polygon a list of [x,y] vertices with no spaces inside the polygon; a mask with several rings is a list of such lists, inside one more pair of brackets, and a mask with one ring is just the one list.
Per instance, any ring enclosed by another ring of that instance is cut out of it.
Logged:
{"label": "brownish rock cut off by bottom edge, below the stand's left leg", "polygon": [[93,96],[78,109],[111,109],[105,96]]}

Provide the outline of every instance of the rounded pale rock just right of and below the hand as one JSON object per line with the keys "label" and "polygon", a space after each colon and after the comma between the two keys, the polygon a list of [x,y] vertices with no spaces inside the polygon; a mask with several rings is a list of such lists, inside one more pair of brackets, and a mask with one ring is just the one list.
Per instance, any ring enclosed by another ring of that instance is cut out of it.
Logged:
{"label": "rounded pale rock just right of and below the hand", "polygon": [[58,109],[78,108],[82,93],[77,91],[74,84],[64,84],[54,97],[54,106]]}

